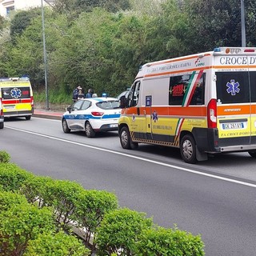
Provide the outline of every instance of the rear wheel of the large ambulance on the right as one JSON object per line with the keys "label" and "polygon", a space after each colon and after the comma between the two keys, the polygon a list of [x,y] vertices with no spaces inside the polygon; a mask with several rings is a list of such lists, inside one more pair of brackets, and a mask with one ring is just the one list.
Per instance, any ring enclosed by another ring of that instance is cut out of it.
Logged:
{"label": "rear wheel of the large ambulance on the right", "polygon": [[196,145],[193,136],[186,134],[180,144],[182,159],[187,163],[196,163]]}

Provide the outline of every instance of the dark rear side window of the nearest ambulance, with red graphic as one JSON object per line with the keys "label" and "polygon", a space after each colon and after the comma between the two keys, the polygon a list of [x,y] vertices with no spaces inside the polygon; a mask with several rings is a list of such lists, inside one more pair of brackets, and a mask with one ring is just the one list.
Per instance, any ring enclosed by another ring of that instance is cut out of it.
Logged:
{"label": "dark rear side window of the nearest ambulance, with red graphic", "polygon": [[206,74],[202,74],[196,84],[191,84],[192,74],[183,74],[170,77],[169,105],[183,105],[186,91],[193,86],[192,98],[188,98],[186,105],[203,105],[205,103],[205,81]]}

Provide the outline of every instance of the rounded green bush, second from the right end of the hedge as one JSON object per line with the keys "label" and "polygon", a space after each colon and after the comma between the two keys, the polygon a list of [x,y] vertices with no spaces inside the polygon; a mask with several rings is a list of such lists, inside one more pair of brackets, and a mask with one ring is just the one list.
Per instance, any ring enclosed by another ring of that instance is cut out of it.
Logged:
{"label": "rounded green bush, second from the right end of the hedge", "polygon": [[97,229],[97,255],[134,255],[142,230],[152,227],[146,214],[129,209],[118,209],[106,214]]}

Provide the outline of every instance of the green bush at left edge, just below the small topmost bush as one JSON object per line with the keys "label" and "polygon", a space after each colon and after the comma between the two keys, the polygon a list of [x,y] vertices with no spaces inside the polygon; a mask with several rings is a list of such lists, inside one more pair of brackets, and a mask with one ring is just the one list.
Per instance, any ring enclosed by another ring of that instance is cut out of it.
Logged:
{"label": "green bush at left edge, just below the small topmost bush", "polygon": [[20,190],[23,182],[33,176],[11,163],[0,163],[0,186],[6,191]]}

